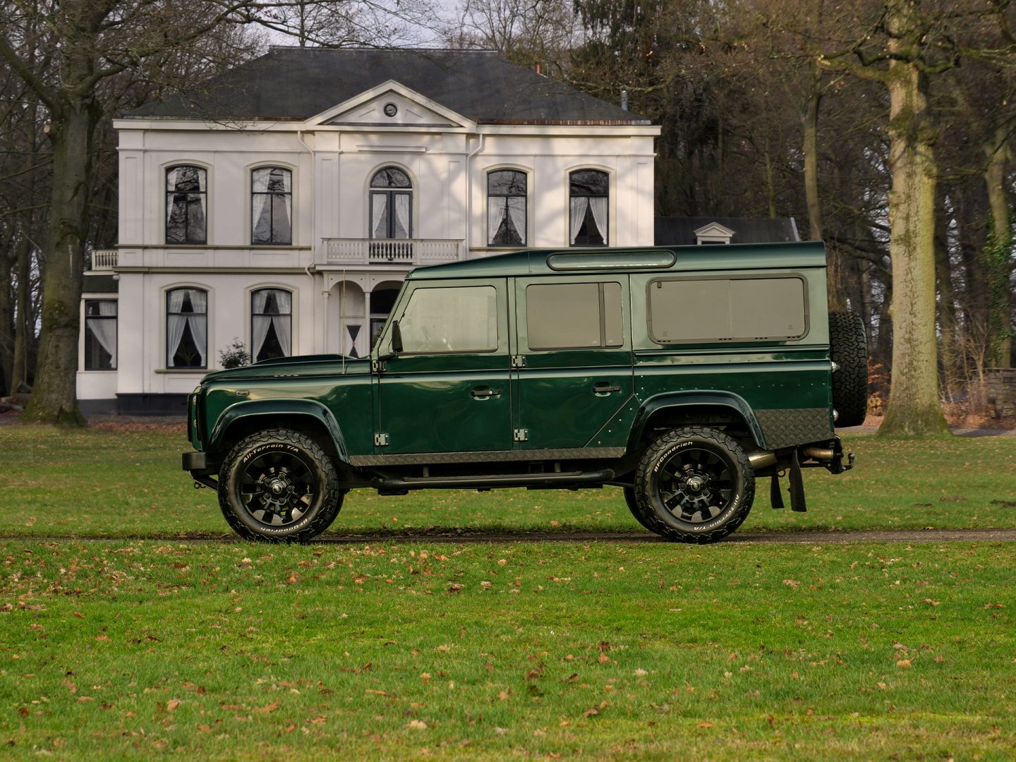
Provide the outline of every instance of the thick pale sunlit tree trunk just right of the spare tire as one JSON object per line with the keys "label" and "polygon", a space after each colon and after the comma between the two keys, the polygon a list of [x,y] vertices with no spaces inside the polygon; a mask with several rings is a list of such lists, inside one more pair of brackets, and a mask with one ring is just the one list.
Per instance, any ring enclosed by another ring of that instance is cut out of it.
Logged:
{"label": "thick pale sunlit tree trunk just right of the spare tire", "polygon": [[[906,44],[890,40],[890,48]],[[927,76],[912,63],[897,59],[889,64],[887,85],[893,346],[889,406],[879,434],[946,434],[935,343],[937,168]]]}

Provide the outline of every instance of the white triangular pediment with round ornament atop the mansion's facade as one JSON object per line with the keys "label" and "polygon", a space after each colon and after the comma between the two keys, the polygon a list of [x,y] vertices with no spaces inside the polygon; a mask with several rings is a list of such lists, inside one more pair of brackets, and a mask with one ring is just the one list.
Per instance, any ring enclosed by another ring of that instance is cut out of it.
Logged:
{"label": "white triangular pediment with round ornament atop the mansion's facade", "polygon": [[475,126],[460,114],[446,109],[393,79],[319,114],[309,120],[309,124],[458,130],[467,130]]}

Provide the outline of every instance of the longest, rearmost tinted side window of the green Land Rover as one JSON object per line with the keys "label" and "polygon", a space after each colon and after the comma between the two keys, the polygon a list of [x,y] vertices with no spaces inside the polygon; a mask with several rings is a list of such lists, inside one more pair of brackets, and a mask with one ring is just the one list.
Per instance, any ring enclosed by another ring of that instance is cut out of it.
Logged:
{"label": "longest, rearmost tinted side window of the green Land Rover", "polygon": [[648,302],[656,343],[772,341],[808,332],[800,275],[652,280]]}

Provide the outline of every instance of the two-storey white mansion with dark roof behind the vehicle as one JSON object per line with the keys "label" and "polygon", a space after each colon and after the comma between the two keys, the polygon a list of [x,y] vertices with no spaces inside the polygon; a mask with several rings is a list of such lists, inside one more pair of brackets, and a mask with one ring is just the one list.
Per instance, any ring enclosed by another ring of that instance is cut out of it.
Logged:
{"label": "two-storey white mansion with dark roof behind the vehicle", "polygon": [[659,128],[493,53],[274,48],[114,125],[85,412],[180,411],[237,338],[363,356],[415,266],[653,244]]}

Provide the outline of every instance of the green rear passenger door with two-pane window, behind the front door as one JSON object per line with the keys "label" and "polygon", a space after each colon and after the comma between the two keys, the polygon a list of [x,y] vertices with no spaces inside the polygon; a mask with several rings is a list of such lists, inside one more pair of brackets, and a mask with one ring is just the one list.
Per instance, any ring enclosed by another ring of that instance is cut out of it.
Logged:
{"label": "green rear passenger door with two-pane window, behind the front door", "polygon": [[634,389],[628,276],[517,278],[515,304],[521,447],[623,445],[596,435]]}

